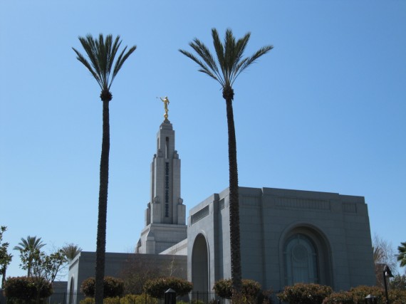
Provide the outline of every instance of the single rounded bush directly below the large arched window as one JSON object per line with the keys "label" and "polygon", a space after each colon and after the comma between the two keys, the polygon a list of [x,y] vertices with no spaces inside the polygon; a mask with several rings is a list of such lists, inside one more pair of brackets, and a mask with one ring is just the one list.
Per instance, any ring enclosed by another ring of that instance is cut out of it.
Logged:
{"label": "single rounded bush directly below the large arched window", "polygon": [[289,304],[321,304],[332,292],[330,286],[297,283],[286,286],[283,292],[278,294],[278,298]]}

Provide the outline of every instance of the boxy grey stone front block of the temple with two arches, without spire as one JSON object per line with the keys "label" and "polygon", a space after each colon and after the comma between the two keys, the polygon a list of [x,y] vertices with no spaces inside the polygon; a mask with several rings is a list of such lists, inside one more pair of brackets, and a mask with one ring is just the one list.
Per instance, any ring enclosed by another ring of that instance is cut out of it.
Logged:
{"label": "boxy grey stone front block of the temple with two arches, without spire", "polygon": [[[335,290],[375,284],[362,196],[240,187],[239,197],[243,278],[273,290],[296,282]],[[191,209],[187,241],[195,290],[231,277],[228,189]]]}

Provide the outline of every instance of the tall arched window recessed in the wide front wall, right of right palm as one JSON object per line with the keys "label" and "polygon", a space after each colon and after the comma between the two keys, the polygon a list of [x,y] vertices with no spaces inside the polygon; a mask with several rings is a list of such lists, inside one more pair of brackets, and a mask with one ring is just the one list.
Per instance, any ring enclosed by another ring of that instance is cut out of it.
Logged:
{"label": "tall arched window recessed in the wide front wall, right of right palm", "polygon": [[285,243],[285,284],[318,283],[318,256],[308,236],[293,234]]}

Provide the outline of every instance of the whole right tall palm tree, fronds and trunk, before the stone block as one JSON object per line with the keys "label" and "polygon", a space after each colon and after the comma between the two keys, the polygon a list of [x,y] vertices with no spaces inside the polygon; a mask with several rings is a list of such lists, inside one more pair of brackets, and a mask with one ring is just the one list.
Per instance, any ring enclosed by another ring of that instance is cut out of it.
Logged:
{"label": "whole right tall palm tree, fronds and trunk, before the stone block", "polygon": [[259,57],[271,51],[273,46],[264,46],[254,55],[243,58],[244,50],[251,33],[238,39],[233,36],[231,29],[227,29],[224,43],[220,41],[216,28],[212,28],[212,38],[217,61],[209,48],[199,39],[194,38],[189,46],[197,56],[188,51],[179,50],[200,67],[199,72],[209,75],[222,86],[223,98],[226,100],[227,129],[229,136],[229,214],[230,214],[230,249],[231,249],[231,279],[233,288],[237,293],[241,290],[241,255],[239,240],[239,188],[236,159],[236,135],[234,128],[234,113],[232,102],[234,100],[233,84],[238,75],[254,63]]}

